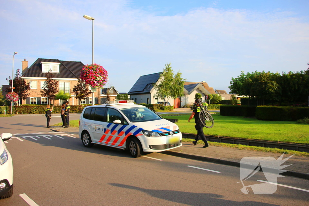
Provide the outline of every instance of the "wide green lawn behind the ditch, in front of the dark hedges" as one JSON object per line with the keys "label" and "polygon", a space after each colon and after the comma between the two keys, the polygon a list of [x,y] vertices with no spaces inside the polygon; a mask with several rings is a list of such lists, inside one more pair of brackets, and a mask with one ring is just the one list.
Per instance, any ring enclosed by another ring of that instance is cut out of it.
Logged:
{"label": "wide green lawn behind the ditch, in front of the dark hedges", "polygon": [[[309,144],[308,124],[262,121],[255,118],[221,116],[220,114],[212,114],[212,116],[214,117],[214,126],[213,128],[204,128],[206,135]],[[176,124],[181,132],[196,132],[194,118],[188,122],[189,115],[164,118],[178,119]]]}

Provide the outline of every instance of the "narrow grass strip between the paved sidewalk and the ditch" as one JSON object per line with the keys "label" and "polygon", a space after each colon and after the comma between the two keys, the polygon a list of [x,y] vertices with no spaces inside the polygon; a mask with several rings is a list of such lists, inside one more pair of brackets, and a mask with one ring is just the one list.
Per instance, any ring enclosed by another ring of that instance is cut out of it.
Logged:
{"label": "narrow grass strip between the paved sidewalk and the ditch", "polygon": [[[193,139],[184,138],[182,139],[183,142],[192,142]],[[197,144],[205,144],[203,141],[199,140]],[[248,146],[248,145],[236,145],[236,144],[226,144],[220,142],[208,142],[209,145],[215,147],[230,147],[236,149],[246,149],[258,152],[272,152],[272,153],[285,153],[285,154],[295,154],[297,156],[309,157],[309,153],[307,152],[298,152],[294,150],[287,150],[287,149],[277,149],[277,148],[269,148],[269,147],[256,147],[256,146]]]}

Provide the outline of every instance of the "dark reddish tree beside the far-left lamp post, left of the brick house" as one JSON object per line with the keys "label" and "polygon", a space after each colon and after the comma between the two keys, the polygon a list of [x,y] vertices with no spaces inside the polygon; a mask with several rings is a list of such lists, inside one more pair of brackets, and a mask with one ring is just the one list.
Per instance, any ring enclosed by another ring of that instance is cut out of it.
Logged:
{"label": "dark reddish tree beside the far-left lamp post, left of the brick house", "polygon": [[[12,85],[12,80],[11,76],[6,79],[9,82],[9,85]],[[30,88],[30,82],[26,83],[24,79],[21,78],[19,69],[16,70],[16,74],[14,76],[14,81],[13,81],[13,87],[15,87],[14,92],[18,95],[19,101],[18,103],[20,104],[20,101],[26,100],[28,96],[30,95],[30,92],[28,92]],[[9,93],[11,92],[12,89],[6,87],[6,92]]]}

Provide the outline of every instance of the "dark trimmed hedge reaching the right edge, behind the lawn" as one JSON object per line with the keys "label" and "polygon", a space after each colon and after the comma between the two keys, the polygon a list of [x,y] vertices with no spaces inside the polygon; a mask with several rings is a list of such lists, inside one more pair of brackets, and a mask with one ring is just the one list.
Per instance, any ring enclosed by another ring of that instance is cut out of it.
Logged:
{"label": "dark trimmed hedge reaching the right edge, behind the lawn", "polygon": [[256,119],[270,121],[296,121],[309,117],[309,107],[256,107]]}

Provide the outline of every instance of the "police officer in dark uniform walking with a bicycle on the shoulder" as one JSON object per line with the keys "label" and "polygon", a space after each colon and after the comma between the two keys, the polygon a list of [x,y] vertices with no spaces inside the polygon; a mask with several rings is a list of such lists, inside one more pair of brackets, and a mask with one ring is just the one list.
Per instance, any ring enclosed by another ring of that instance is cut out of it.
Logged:
{"label": "police officer in dark uniform walking with a bicycle on the shoulder", "polygon": [[193,112],[191,114],[191,116],[188,119],[188,122],[190,122],[190,120],[193,118],[194,116],[194,120],[195,120],[195,129],[197,130],[197,136],[195,138],[195,141],[193,141],[193,144],[196,145],[197,141],[199,140],[199,137],[201,137],[202,141],[205,143],[205,145],[203,146],[204,148],[208,147],[208,142],[206,140],[206,137],[204,135],[204,131],[203,131],[203,127],[204,125],[201,123],[199,115],[200,115],[200,111],[201,111],[201,105],[199,104],[199,100],[196,99],[194,101],[194,106],[193,106]]}

